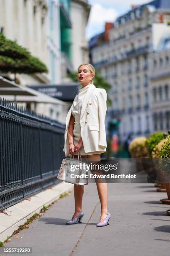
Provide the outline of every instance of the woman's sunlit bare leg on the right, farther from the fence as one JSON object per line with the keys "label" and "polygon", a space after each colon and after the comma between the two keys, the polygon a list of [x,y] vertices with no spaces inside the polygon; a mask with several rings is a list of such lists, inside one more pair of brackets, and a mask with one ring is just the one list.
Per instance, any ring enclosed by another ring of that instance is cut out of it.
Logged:
{"label": "woman's sunlit bare leg on the right, farther from the fence", "polygon": [[[88,160],[92,163],[93,161],[100,161],[100,154],[88,155]],[[101,216],[100,221],[103,221],[107,216],[107,183],[96,182],[97,192],[100,199],[101,205]]]}

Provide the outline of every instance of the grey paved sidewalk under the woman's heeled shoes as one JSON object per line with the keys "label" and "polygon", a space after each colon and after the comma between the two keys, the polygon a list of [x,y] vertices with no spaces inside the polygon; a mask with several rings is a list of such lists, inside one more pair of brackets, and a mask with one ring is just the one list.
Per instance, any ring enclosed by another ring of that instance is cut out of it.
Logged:
{"label": "grey paved sidewalk under the woman's heeled shoes", "polygon": [[[95,184],[85,186],[82,223],[66,225],[74,194],[60,199],[5,247],[32,247],[33,256],[168,256],[170,216],[153,184],[108,184],[110,225],[97,228],[100,203]],[[80,241],[78,241],[80,239]],[[72,249],[75,251],[72,252]],[[2,248],[0,249],[2,251]],[[16,255],[16,254],[11,254]]]}

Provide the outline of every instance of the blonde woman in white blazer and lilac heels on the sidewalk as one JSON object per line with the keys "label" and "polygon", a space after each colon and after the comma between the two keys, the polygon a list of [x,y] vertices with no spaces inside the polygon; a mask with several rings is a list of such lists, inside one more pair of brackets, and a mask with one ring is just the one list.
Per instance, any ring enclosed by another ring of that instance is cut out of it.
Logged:
{"label": "blonde woman in white blazer and lilac heels on the sidewalk", "polygon": [[[106,152],[105,114],[107,93],[105,89],[96,88],[92,83],[95,69],[91,64],[81,64],[77,78],[81,83],[79,93],[67,113],[65,129],[65,156],[78,153],[91,162],[100,161],[100,154]],[[97,191],[101,204],[100,222],[97,227],[109,224],[110,213],[107,211],[107,183],[98,183]],[[67,224],[80,223],[84,215],[82,196],[84,185],[74,184],[75,212]]]}

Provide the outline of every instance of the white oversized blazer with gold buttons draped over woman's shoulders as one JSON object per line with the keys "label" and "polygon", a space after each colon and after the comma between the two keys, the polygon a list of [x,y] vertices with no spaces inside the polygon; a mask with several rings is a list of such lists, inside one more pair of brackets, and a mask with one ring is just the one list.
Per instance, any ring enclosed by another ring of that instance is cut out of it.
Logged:
{"label": "white oversized blazer with gold buttons draped over woman's shoulders", "polygon": [[[82,101],[80,113],[81,138],[85,153],[94,151],[106,151],[105,115],[107,93],[103,88],[96,88],[91,84]],[[72,103],[73,106],[73,103]],[[67,113],[65,128],[65,156],[70,156],[68,142],[68,126],[72,112],[72,106]]]}

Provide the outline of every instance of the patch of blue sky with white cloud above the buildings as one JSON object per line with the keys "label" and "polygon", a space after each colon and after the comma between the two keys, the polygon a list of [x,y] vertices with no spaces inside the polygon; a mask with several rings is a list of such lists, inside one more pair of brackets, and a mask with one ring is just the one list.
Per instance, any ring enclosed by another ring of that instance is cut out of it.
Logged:
{"label": "patch of blue sky with white cloud above the buildings", "polygon": [[88,0],[92,6],[86,27],[87,40],[103,32],[105,22],[114,22],[117,17],[127,13],[131,5],[149,2],[151,0]]}

